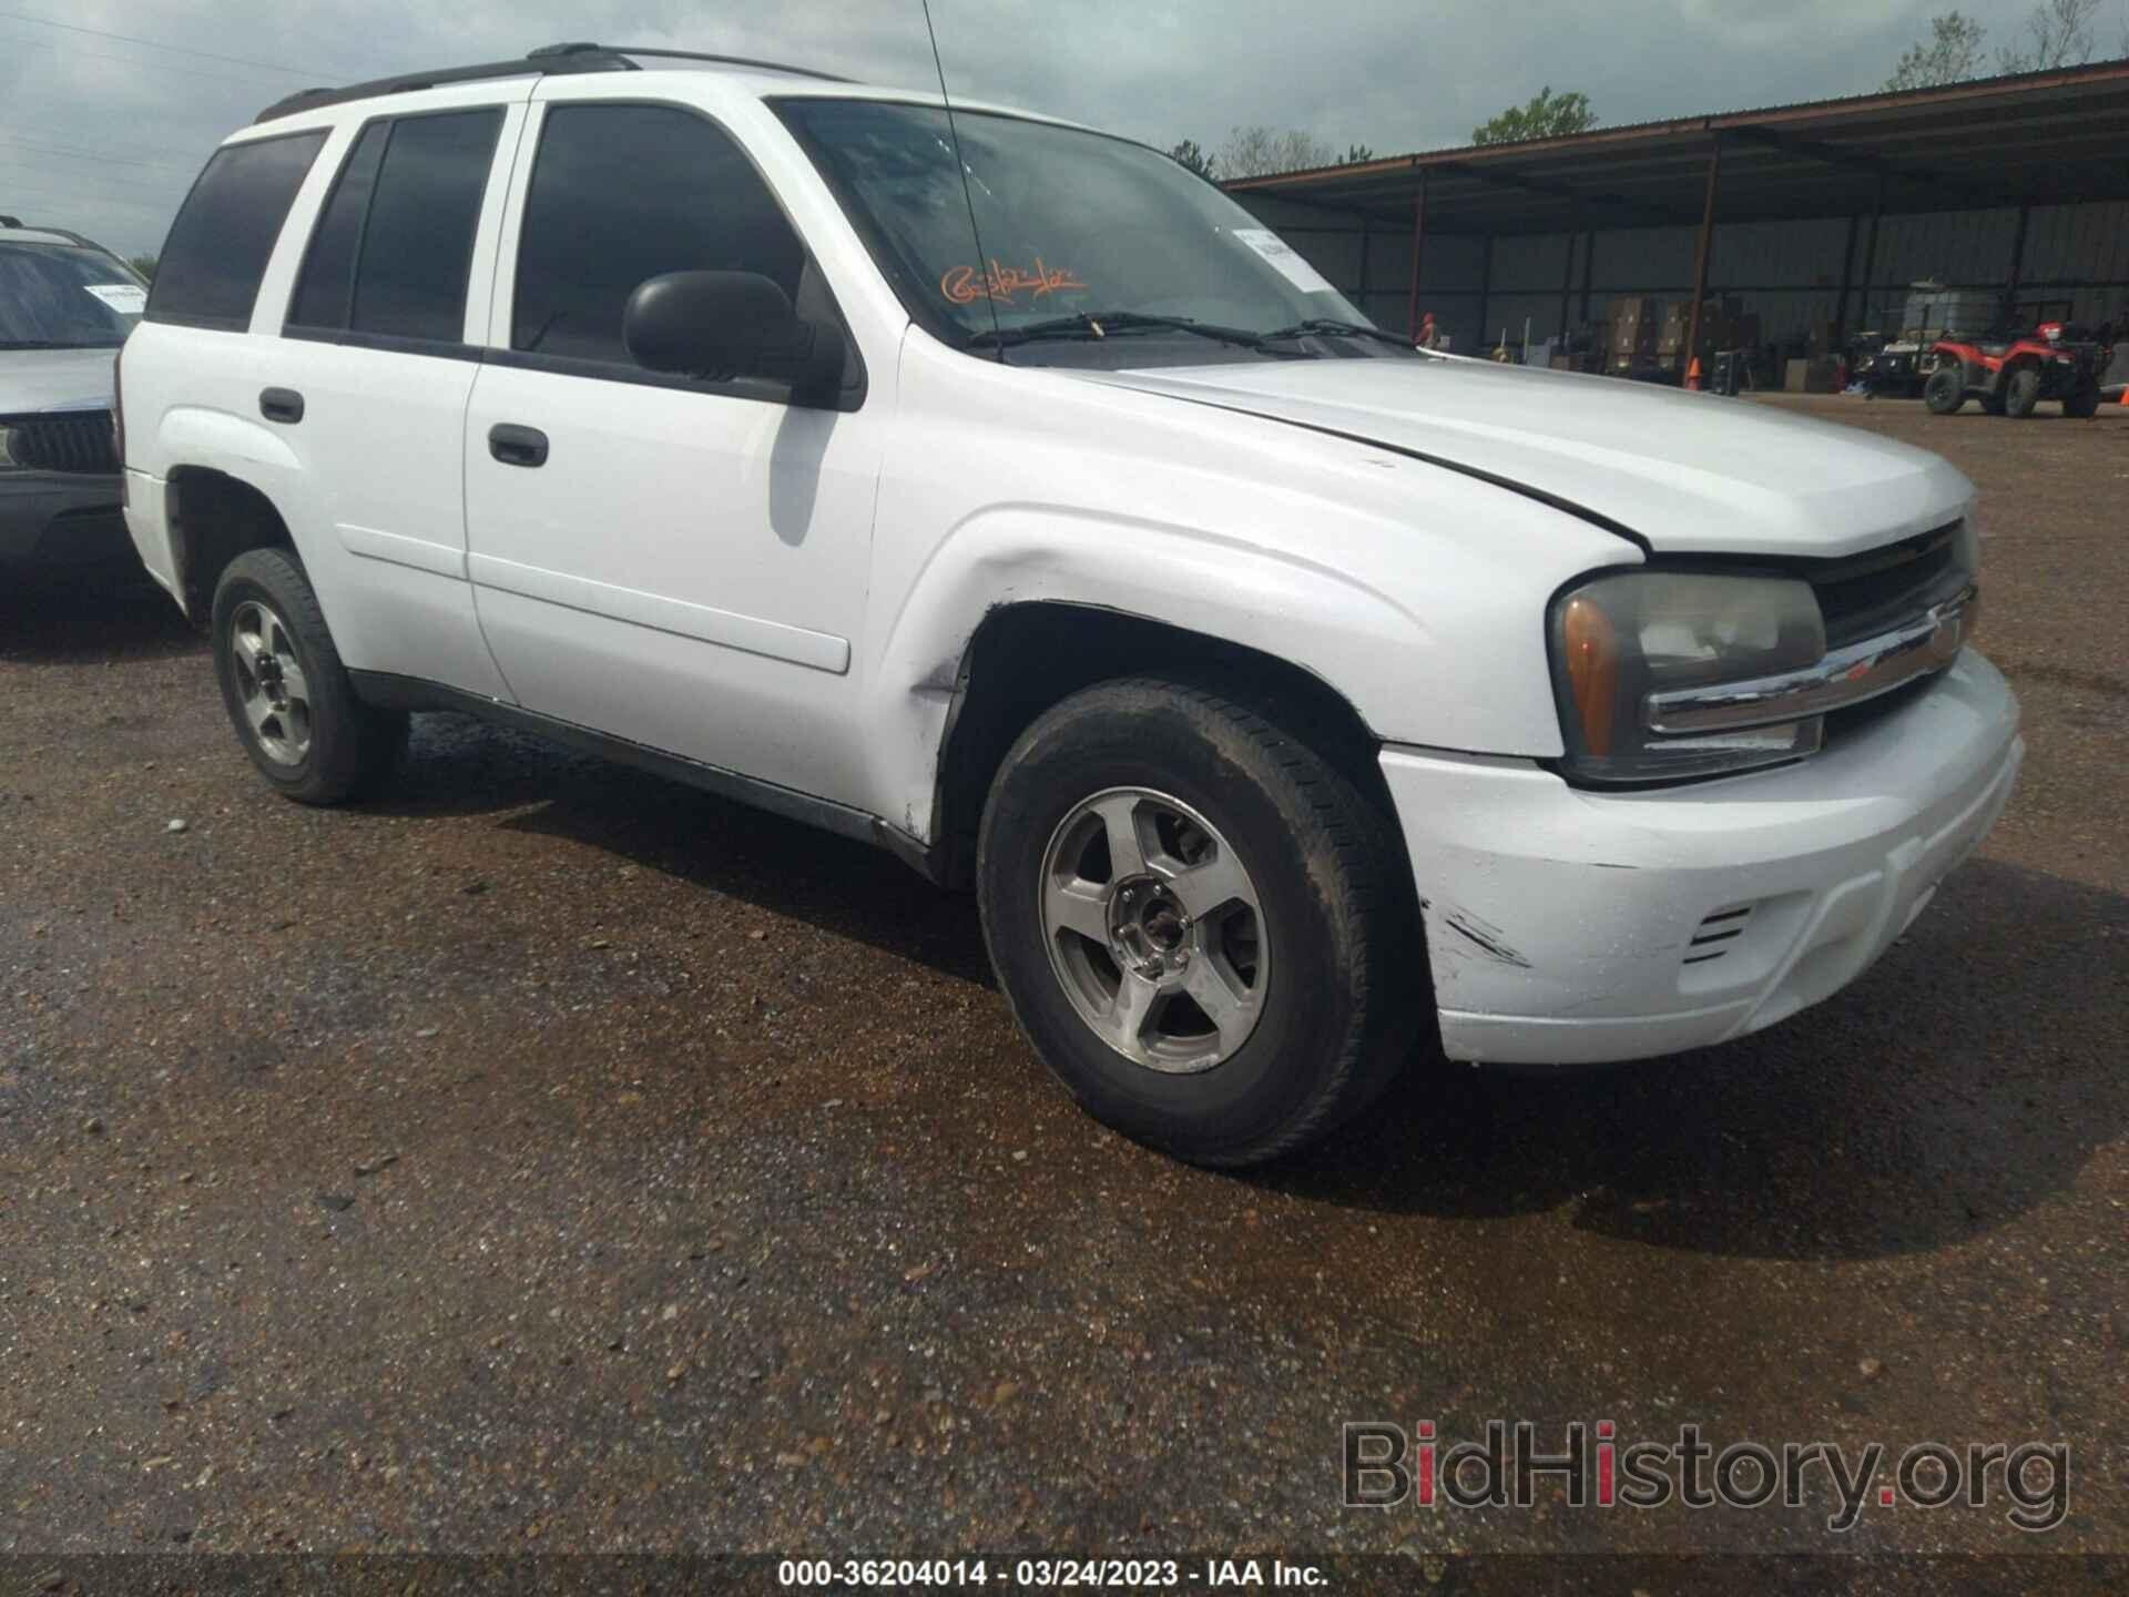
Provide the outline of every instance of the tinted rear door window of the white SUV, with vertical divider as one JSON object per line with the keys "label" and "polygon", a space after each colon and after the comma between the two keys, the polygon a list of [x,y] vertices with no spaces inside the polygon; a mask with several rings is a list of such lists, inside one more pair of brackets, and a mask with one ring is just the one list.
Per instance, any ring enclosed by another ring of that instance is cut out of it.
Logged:
{"label": "tinted rear door window of the white SUV, with vertical divider", "polygon": [[373,121],[311,234],[290,328],[462,343],[500,111]]}

